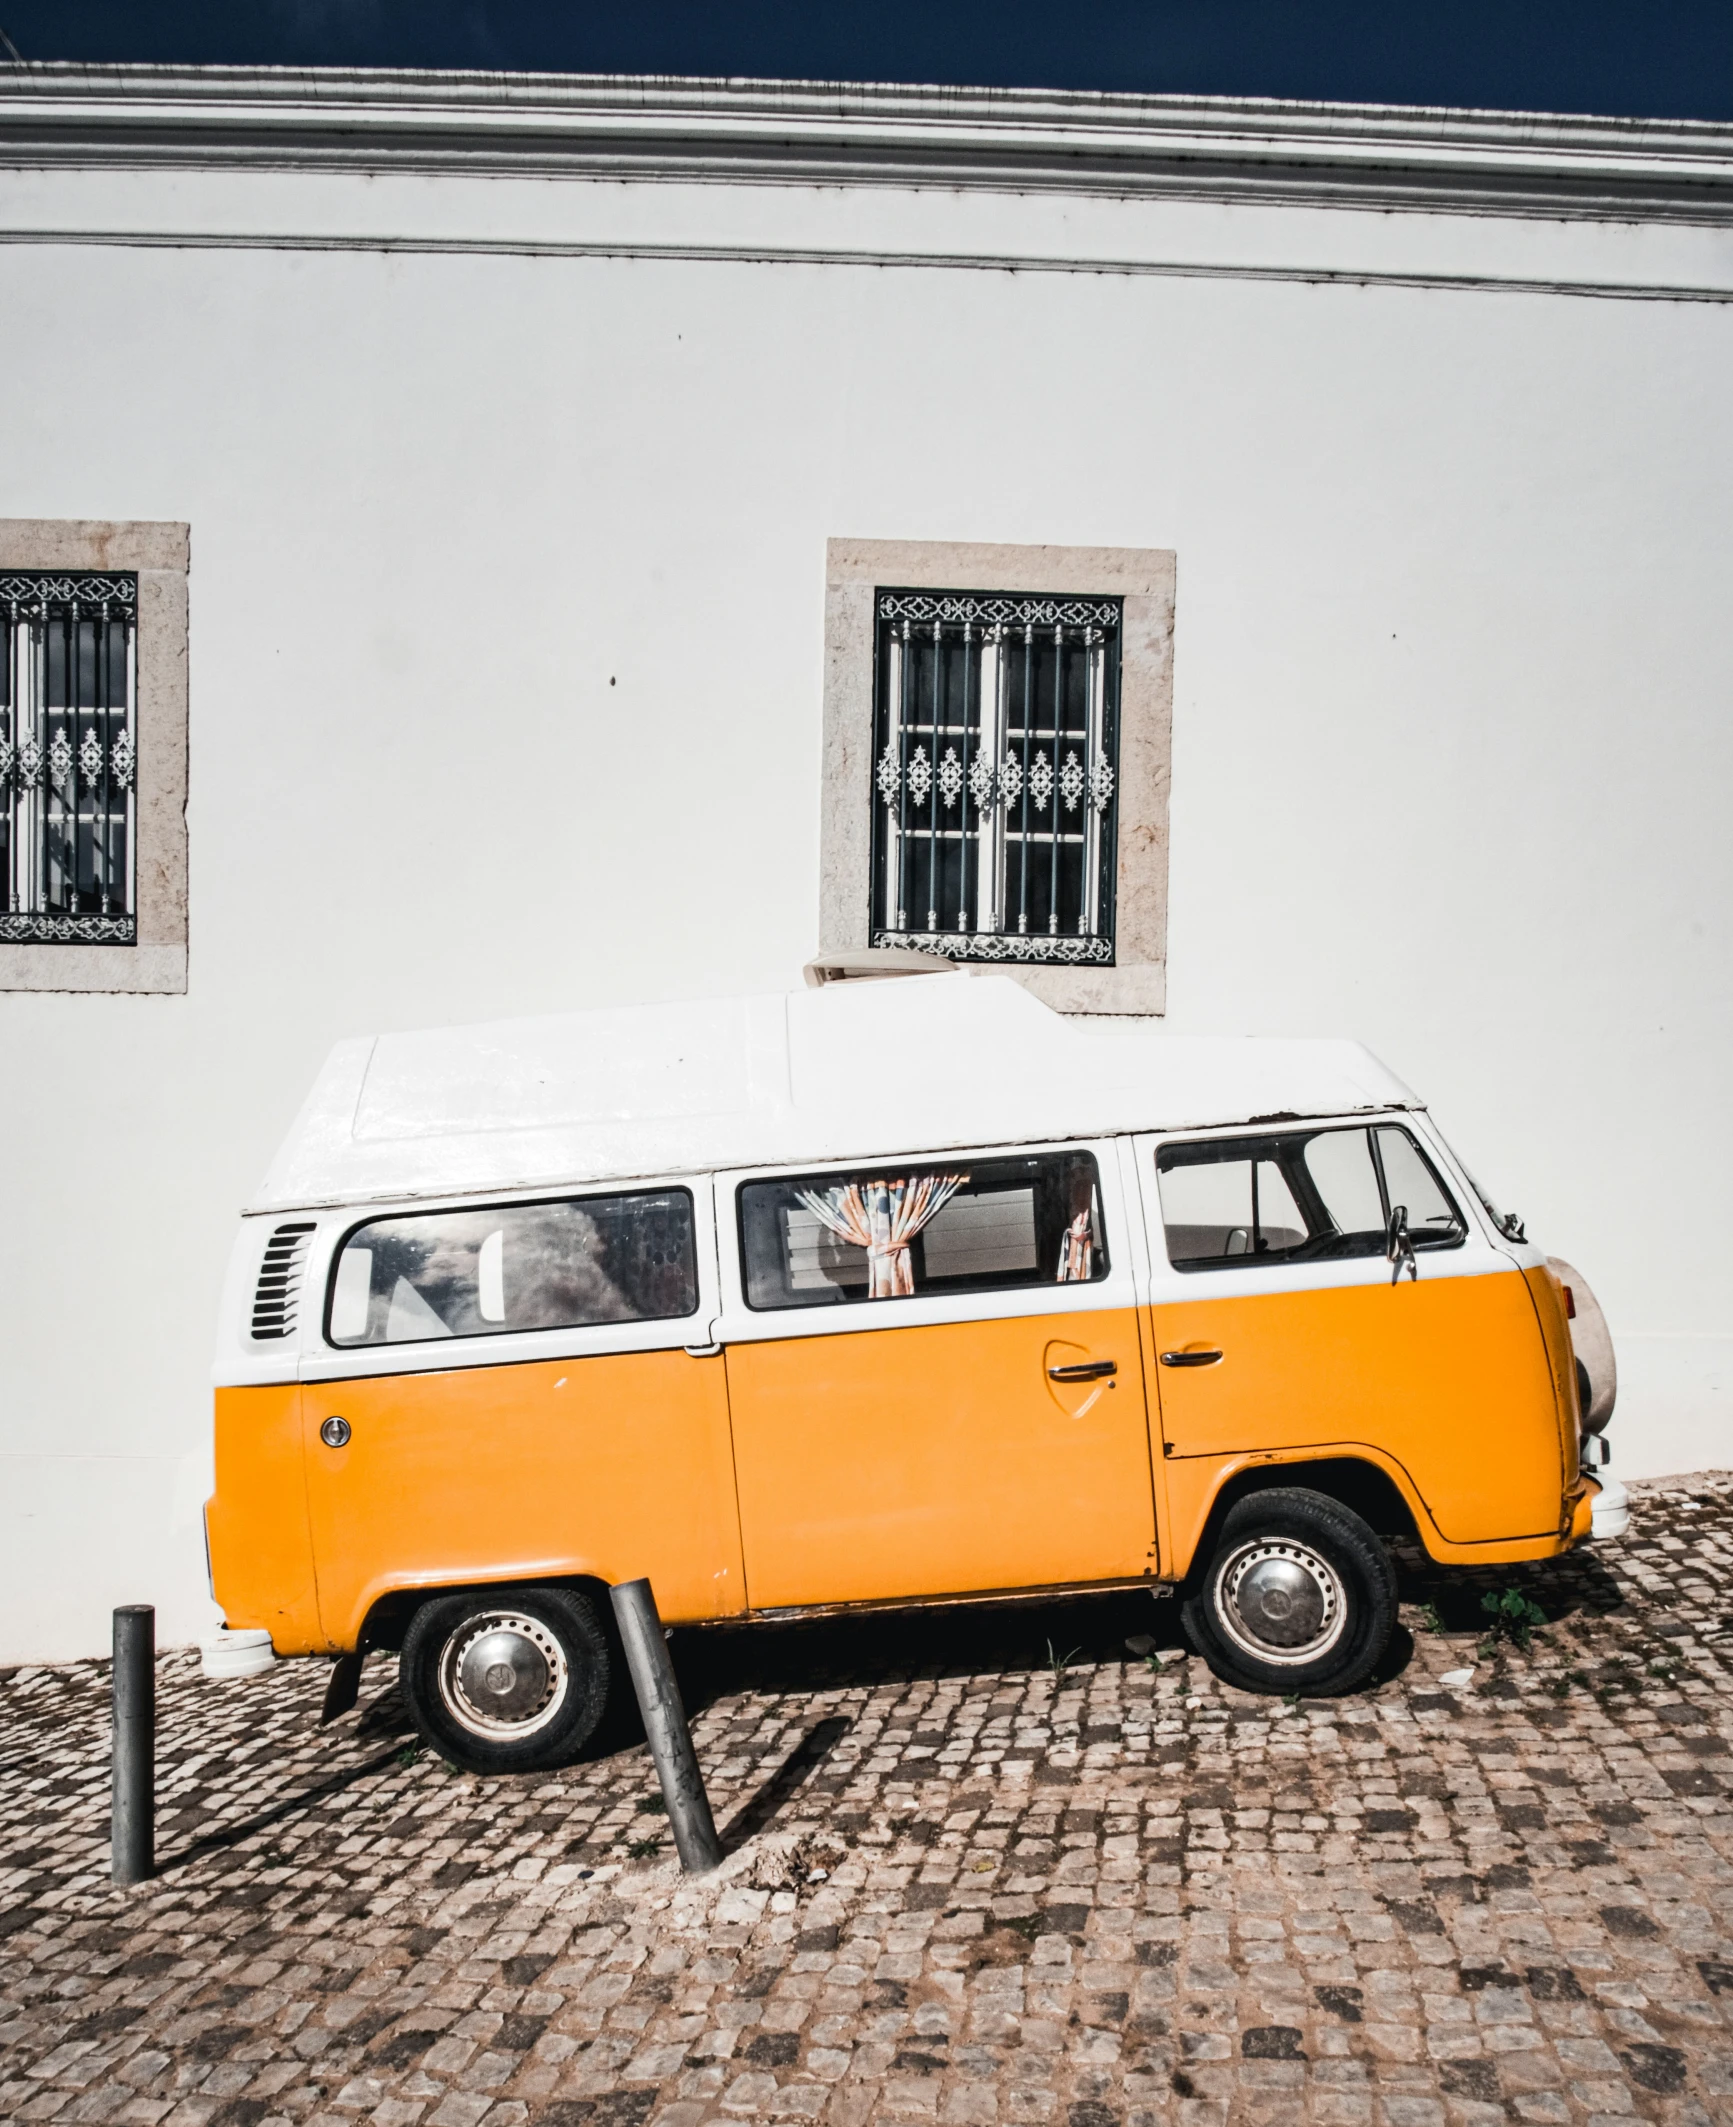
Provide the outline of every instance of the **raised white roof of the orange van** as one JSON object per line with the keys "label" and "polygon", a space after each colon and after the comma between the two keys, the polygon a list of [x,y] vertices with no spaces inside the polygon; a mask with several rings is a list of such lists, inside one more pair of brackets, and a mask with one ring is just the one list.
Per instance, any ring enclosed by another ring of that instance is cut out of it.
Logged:
{"label": "raised white roof of the orange van", "polygon": [[338,1042],[251,1208],[1418,1106],[1359,1042],[1118,1032],[921,974]]}

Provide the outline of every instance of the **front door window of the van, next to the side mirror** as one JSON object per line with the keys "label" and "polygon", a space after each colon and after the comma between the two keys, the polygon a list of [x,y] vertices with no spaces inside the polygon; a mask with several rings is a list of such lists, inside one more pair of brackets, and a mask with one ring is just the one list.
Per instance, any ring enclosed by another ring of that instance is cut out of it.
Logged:
{"label": "front door window of the van, next to the side mirror", "polygon": [[1454,1249],[1467,1232],[1433,1163],[1393,1123],[1163,1144],[1157,1176],[1174,1270],[1382,1255],[1397,1204],[1416,1249]]}

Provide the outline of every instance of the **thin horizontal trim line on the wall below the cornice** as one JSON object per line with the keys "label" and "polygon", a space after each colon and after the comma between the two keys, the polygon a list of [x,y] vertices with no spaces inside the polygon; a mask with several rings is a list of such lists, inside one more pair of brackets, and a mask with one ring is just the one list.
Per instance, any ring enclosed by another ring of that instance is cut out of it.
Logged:
{"label": "thin horizontal trim line on the wall below the cornice", "polygon": [[285,236],[230,230],[6,230],[0,245],[100,245],[123,251],[372,251],[425,257],[640,259],[702,266],[859,266],[872,270],[1104,274],[1163,281],[1280,281],[1303,287],[1399,287],[1486,296],[1571,296],[1599,302],[1733,302],[1733,285],[1567,281],[1522,274],[1391,272],[1348,266],[1257,266],[1197,259],[1089,259],[989,251],[844,251],[795,245],[655,245],[512,236]]}

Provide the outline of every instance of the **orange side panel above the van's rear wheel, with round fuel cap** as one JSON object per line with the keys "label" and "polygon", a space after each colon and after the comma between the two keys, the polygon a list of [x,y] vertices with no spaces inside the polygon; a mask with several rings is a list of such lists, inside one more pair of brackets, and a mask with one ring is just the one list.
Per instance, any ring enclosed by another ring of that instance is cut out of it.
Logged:
{"label": "orange side panel above the van's rear wheel, with round fuel cap", "polygon": [[[302,1391],[325,1644],[393,1591],[649,1576],[670,1623],[744,1604],[721,1357],[468,1366]],[[347,1446],[319,1425],[344,1417]]]}

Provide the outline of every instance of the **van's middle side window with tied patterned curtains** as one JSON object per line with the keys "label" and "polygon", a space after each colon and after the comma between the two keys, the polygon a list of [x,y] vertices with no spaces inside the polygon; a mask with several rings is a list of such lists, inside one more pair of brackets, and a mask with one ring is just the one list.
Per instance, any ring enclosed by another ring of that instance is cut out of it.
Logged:
{"label": "van's middle side window with tied patterned curtains", "polygon": [[1089,1153],[874,1161],[740,1189],[746,1306],[1074,1285],[1108,1274]]}

